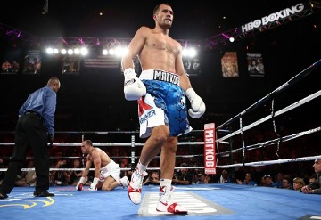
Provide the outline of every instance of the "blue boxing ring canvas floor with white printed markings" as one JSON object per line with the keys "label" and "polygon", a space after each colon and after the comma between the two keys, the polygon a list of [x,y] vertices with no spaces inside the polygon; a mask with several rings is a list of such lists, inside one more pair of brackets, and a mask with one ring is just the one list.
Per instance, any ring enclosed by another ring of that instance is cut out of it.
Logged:
{"label": "blue boxing ring canvas floor with white printed markings", "polygon": [[157,213],[159,186],[143,186],[143,200],[134,205],[127,189],[76,191],[51,187],[50,198],[33,197],[33,187],[15,187],[0,200],[0,219],[321,219],[321,196],[299,191],[238,184],[177,186],[176,200],[187,215]]}

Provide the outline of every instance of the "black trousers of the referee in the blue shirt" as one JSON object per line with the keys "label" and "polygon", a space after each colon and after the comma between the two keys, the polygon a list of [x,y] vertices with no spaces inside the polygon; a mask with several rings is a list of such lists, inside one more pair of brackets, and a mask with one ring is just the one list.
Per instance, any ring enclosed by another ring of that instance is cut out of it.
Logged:
{"label": "black trousers of the referee in the blue shirt", "polygon": [[21,115],[15,128],[15,146],[8,170],[4,175],[2,192],[9,194],[12,191],[17,175],[21,174],[21,167],[25,163],[29,147],[31,147],[37,175],[36,191],[49,189],[50,158],[47,138],[43,120],[36,113]]}

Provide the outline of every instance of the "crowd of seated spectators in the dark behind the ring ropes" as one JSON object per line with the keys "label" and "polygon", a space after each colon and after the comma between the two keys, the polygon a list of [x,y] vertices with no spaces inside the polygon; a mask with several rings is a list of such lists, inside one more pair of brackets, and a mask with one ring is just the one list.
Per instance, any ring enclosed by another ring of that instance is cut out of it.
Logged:
{"label": "crowd of seated spectators in the dark behind the ring ropes", "polygon": [[[253,134],[249,135],[250,139],[255,139],[255,142],[261,142],[264,135],[253,131]],[[272,134],[270,134],[272,135]],[[202,135],[201,135],[202,136]],[[115,137],[116,138],[116,137]],[[186,138],[186,137],[185,137]],[[311,138],[313,141],[311,141]],[[86,157],[82,155],[80,150],[81,140],[78,140],[78,135],[56,135],[55,143],[79,143],[79,146],[61,146],[53,144],[53,148],[49,149],[52,166],[51,168],[83,168],[86,161]],[[117,139],[117,138],[116,138]],[[129,143],[130,137],[128,137]],[[113,143],[112,138],[96,137],[93,138],[96,143]],[[124,141],[123,137],[121,139]],[[0,136],[0,142],[12,143],[13,136],[2,134]],[[185,139],[183,137],[182,142]],[[193,141],[202,141],[202,137],[193,135]],[[140,142],[140,141],[136,141]],[[67,144],[68,145],[68,144]],[[320,141],[317,138],[317,134],[307,135],[295,139],[295,141],[282,143],[279,146],[273,145],[265,148],[259,148],[252,151],[246,151],[246,158],[244,162],[253,161],[268,161],[274,159],[294,159],[300,157],[309,157],[320,155],[320,150],[317,146],[320,145]],[[95,146],[95,143],[94,143]],[[125,146],[99,146],[103,151],[106,151],[111,159],[119,163],[121,168],[128,168],[130,164],[131,150]],[[140,151],[139,146],[136,146],[136,154]],[[222,151],[222,149],[220,150]],[[12,147],[1,146],[0,147],[0,168],[5,168],[9,164],[9,158],[12,154]],[[185,155],[193,155],[193,157],[184,157]],[[218,165],[226,165],[232,163],[242,163],[242,152],[233,154],[233,158],[230,157],[218,157]],[[157,184],[159,183],[159,159],[152,160],[150,164],[149,175],[145,177],[144,184]],[[258,186],[270,186],[276,188],[294,189],[297,185],[303,186],[309,184],[314,177],[314,170],[312,167],[313,161],[300,161],[284,164],[274,164],[268,166],[259,167],[233,167],[229,169],[217,168],[216,175],[205,175],[203,168],[203,148],[202,145],[180,145],[177,148],[177,164],[176,172],[173,176],[174,184],[198,184],[198,183],[236,183],[236,184],[251,184]],[[25,167],[32,168],[32,154],[29,152],[26,159]],[[188,168],[194,167],[194,168]],[[152,169],[155,168],[155,169]],[[0,183],[4,177],[4,171],[0,172]],[[56,185],[75,185],[78,183],[79,177],[81,177],[82,171],[72,170],[51,170],[50,171],[50,183],[52,186]],[[89,175],[88,183],[93,178],[94,173]],[[130,171],[123,169],[122,175],[128,175],[130,179]],[[152,181],[153,179],[153,181]],[[22,171],[21,175],[17,176],[17,186],[34,186],[37,176],[35,171]]]}

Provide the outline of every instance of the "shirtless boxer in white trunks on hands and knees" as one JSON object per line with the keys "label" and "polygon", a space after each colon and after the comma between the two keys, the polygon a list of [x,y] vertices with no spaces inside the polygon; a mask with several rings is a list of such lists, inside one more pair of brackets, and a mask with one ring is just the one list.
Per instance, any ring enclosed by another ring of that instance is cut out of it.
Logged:
{"label": "shirtless boxer in white trunks on hands and knees", "polygon": [[[127,176],[120,179],[120,167],[115,163],[103,150],[93,146],[90,140],[81,143],[81,151],[86,154],[86,167],[81,176],[76,190],[81,191],[90,167],[95,166],[95,178],[89,186],[89,191],[112,191],[118,185],[128,186],[129,180]],[[102,168],[102,171],[101,171]]]}

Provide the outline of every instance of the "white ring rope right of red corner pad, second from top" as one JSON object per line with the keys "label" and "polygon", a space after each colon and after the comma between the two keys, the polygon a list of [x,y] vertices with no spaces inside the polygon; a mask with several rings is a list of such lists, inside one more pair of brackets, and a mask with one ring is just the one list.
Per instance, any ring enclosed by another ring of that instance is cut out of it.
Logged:
{"label": "white ring rope right of red corner pad, second from top", "polygon": [[[275,117],[283,114],[283,113],[286,112],[286,111],[295,109],[296,107],[299,107],[300,105],[302,105],[302,104],[304,104],[304,103],[306,103],[306,102],[309,102],[309,101],[317,98],[317,97],[320,96],[320,95],[321,95],[321,90],[319,90],[317,93],[310,94],[309,96],[301,99],[300,101],[294,102],[294,103],[292,103],[291,105],[285,107],[284,109],[276,111]],[[256,122],[253,122],[252,124],[250,124],[250,125],[248,125],[248,126],[244,126],[244,127],[243,127],[243,132],[246,131],[246,130],[251,129],[251,128],[254,127],[254,126],[258,126],[259,124],[267,121],[267,120],[270,119],[270,118],[272,118],[272,116],[271,116],[271,115],[268,115],[268,116],[266,116],[266,117],[264,117],[264,118],[261,118],[261,119],[257,120]],[[235,134],[240,134],[240,132],[241,132],[240,130],[236,130],[235,132],[233,132],[233,133],[231,133],[231,134],[226,134],[226,136],[223,136],[223,137],[221,137],[221,138],[218,138],[218,139],[217,139],[217,142],[219,143],[219,142],[221,142],[221,141],[223,141],[223,140],[226,140],[227,138],[232,137],[232,136],[234,136]]]}

